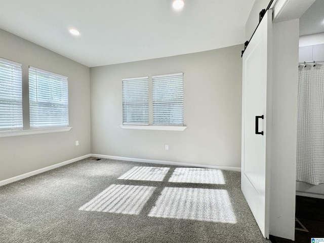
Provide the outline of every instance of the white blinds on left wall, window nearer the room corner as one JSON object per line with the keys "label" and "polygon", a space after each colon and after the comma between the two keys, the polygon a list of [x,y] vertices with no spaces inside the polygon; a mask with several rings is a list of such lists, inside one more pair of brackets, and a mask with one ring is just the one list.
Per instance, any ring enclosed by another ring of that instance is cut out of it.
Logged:
{"label": "white blinds on left wall, window nearer the room corner", "polygon": [[29,67],[30,128],[67,127],[67,77]]}

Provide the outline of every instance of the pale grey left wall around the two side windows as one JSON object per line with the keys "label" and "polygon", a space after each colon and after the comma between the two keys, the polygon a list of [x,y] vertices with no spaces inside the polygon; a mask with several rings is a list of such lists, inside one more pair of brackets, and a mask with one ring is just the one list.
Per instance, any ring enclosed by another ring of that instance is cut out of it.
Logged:
{"label": "pale grey left wall around the two side windows", "polygon": [[0,57],[22,63],[24,121],[28,121],[28,66],[68,76],[69,124],[73,127],[68,132],[0,138],[0,181],[89,154],[89,67],[2,29]]}

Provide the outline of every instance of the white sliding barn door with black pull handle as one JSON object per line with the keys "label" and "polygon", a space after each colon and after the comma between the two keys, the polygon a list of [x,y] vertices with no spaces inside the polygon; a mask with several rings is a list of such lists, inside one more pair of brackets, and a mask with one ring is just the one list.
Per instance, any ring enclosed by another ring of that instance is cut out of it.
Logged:
{"label": "white sliding barn door with black pull handle", "polygon": [[266,238],[269,238],[270,171],[266,160],[266,128],[271,33],[272,12],[268,10],[242,57],[241,190]]}

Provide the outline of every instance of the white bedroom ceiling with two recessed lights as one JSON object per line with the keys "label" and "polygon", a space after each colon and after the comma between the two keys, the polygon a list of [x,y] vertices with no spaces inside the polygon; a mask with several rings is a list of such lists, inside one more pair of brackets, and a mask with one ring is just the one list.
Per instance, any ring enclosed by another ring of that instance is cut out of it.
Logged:
{"label": "white bedroom ceiling with two recessed lights", "polygon": [[185,0],[177,12],[172,0],[0,0],[0,28],[94,67],[242,44],[254,2]]}

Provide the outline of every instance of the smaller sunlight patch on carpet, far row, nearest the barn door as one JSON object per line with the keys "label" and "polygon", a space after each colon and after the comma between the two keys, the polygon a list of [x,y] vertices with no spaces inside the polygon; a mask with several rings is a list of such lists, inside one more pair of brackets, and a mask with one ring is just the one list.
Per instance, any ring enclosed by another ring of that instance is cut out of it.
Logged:
{"label": "smaller sunlight patch on carpet, far row, nearest the barn door", "polygon": [[169,182],[225,184],[221,170],[205,168],[176,168]]}

